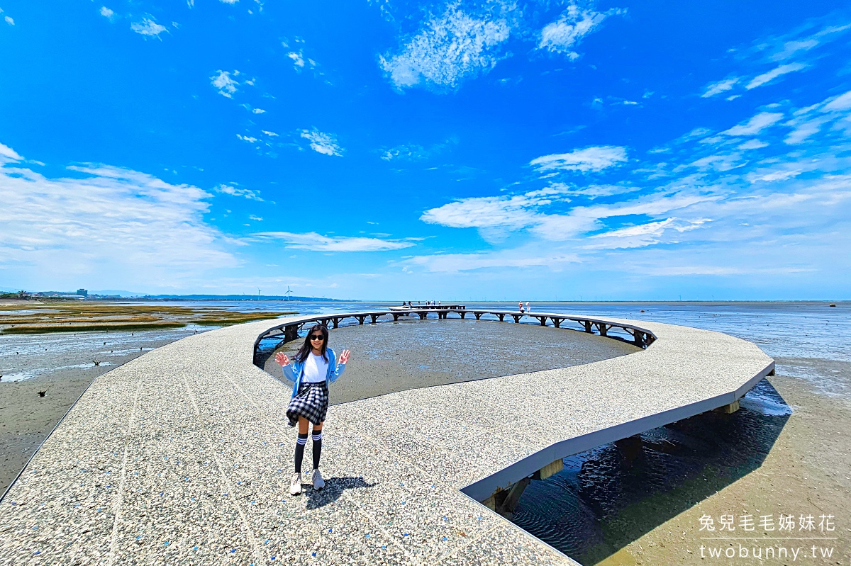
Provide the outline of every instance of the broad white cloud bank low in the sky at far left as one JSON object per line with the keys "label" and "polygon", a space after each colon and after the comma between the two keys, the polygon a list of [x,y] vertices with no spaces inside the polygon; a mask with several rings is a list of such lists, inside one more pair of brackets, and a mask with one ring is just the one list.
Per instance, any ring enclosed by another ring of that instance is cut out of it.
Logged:
{"label": "broad white cloud bank low in the sky at far left", "polygon": [[224,236],[203,221],[209,193],[118,167],[69,169],[73,178],[0,167],[0,265],[6,273],[171,286],[237,265]]}

